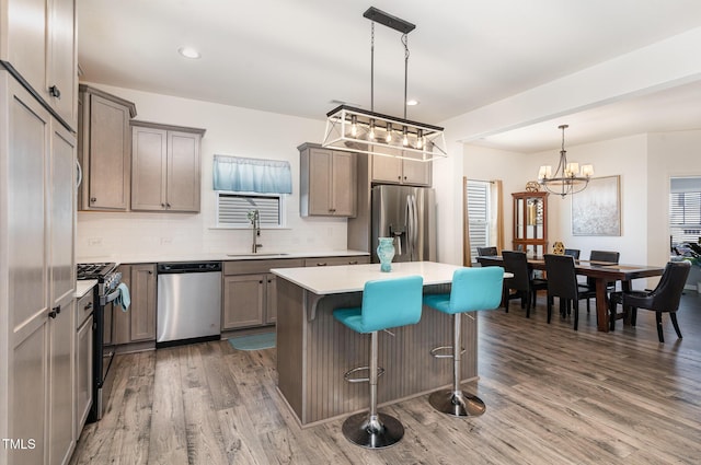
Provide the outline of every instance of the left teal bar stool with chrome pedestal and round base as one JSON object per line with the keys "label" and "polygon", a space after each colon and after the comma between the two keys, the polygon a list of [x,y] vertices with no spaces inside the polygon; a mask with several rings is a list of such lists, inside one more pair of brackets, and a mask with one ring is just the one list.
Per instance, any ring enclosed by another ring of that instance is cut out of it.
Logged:
{"label": "left teal bar stool with chrome pedestal and round base", "polygon": [[[350,383],[368,382],[370,411],[356,414],[343,422],[343,435],[367,449],[384,449],[398,443],[404,427],[394,417],[377,411],[377,379],[384,373],[378,368],[378,332],[414,325],[421,319],[424,279],[421,276],[368,281],[363,290],[363,306],[334,310],[333,316],[356,333],[370,334],[370,365],[347,371]],[[368,377],[352,377],[368,370]]]}

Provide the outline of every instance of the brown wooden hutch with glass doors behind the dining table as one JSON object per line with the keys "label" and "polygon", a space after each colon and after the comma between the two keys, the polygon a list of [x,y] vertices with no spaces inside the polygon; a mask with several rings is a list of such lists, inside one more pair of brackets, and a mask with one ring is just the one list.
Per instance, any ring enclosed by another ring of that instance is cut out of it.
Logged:
{"label": "brown wooden hutch with glass doors behind the dining table", "polygon": [[548,252],[549,193],[513,193],[514,249],[542,257]]}

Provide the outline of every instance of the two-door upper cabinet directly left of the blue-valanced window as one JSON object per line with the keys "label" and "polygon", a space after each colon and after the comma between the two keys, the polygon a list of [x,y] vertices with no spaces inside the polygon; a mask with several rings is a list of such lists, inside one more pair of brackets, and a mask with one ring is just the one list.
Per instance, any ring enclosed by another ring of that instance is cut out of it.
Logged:
{"label": "two-door upper cabinet directly left of the blue-valanced window", "polygon": [[199,211],[204,129],[131,121],[131,210]]}

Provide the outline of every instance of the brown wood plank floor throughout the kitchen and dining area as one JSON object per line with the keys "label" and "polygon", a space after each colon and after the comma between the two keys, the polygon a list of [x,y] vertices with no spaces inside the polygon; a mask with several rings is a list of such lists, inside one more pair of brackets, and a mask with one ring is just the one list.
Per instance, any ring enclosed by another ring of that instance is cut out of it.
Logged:
{"label": "brown wood plank floor throughout the kitchen and dining area", "polygon": [[406,429],[388,450],[350,444],[342,420],[300,429],[275,390],[275,349],[216,341],[122,356],[108,411],[71,464],[701,463],[697,293],[678,314],[683,339],[665,315],[664,345],[652,312],[601,334],[583,309],[575,333],[571,318],[548,325],[543,303],[530,319],[515,301],[479,315],[481,379],[463,388],[484,416],[449,418],[426,397],[381,408]]}

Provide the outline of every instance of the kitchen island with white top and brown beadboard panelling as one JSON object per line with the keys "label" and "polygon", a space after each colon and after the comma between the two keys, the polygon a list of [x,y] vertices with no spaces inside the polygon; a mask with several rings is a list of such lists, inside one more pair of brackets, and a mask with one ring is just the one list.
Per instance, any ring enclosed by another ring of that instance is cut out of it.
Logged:
{"label": "kitchen island with white top and brown beadboard panelling", "polygon": [[[272,269],[277,275],[278,390],[302,427],[367,409],[367,383],[348,383],[343,375],[369,360],[369,335],[346,328],[333,318],[338,307],[359,306],[365,282],[420,275],[424,293],[448,292],[455,265],[432,261]],[[380,406],[452,385],[452,362],[429,351],[449,346],[452,318],[424,307],[416,325],[380,333],[378,382]],[[462,319],[463,381],[476,377],[476,322]]]}

